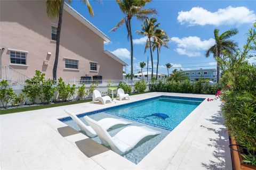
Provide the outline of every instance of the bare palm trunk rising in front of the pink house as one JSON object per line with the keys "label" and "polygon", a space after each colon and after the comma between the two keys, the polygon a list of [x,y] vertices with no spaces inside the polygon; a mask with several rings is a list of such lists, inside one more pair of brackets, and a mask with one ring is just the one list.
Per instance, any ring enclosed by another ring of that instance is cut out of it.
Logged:
{"label": "bare palm trunk rising in front of the pink house", "polygon": [[64,7],[64,0],[61,0],[60,9],[59,9],[59,22],[58,22],[58,29],[57,29],[55,61],[54,61],[53,71],[52,71],[53,80],[57,80],[57,67],[58,67],[58,61],[59,61],[60,31],[61,31],[61,24],[62,24],[63,7]]}

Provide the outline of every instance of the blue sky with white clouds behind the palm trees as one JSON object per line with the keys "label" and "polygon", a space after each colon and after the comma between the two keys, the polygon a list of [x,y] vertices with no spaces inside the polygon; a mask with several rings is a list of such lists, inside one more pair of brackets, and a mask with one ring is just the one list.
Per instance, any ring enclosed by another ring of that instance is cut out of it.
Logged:
{"label": "blue sky with white clouds behind the palm trees", "polygon": [[[109,32],[124,17],[119,6],[115,1],[102,1],[102,4],[90,2],[94,10],[94,18],[89,15],[86,6],[80,1],[73,1],[71,6],[110,37],[111,42],[105,44],[105,49],[130,64],[130,41],[127,40],[125,26],[118,28],[116,32]],[[232,39],[242,46],[245,44],[247,31],[256,20],[256,1],[155,0],[145,8],[155,8],[158,11],[153,17],[157,18],[161,23],[159,28],[164,29],[171,39],[168,44],[169,49],[162,48],[159,55],[161,73],[167,73],[166,63],[172,63],[173,67],[181,67],[183,70],[215,67],[213,57],[204,56],[205,49],[214,43],[212,39],[214,28],[220,29],[220,33],[237,28],[239,33]],[[150,60],[149,50],[144,54],[145,39],[135,32],[141,30],[141,24],[141,21],[132,19],[135,73],[139,70],[139,62],[146,62],[147,56]],[[153,57],[156,65],[156,53]],[[130,71],[130,66],[126,67],[126,71]]]}

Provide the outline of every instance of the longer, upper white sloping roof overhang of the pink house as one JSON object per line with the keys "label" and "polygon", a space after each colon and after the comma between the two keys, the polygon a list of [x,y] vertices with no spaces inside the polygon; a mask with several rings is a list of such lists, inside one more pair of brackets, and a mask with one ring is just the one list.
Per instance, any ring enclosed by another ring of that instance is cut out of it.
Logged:
{"label": "longer, upper white sloping roof overhang of the pink house", "polygon": [[95,27],[91,22],[89,22],[83,15],[79,14],[73,7],[68,5],[67,3],[64,4],[64,10],[67,11],[70,15],[74,16],[78,21],[82,22],[86,27],[91,29],[94,33],[100,36],[104,41],[109,42],[110,38],[105,35],[101,30]]}

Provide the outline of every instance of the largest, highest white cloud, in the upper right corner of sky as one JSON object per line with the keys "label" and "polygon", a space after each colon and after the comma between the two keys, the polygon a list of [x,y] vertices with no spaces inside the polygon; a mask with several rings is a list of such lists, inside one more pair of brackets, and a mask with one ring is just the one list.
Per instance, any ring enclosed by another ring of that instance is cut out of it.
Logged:
{"label": "largest, highest white cloud, in the upper right corner of sky", "polygon": [[178,22],[188,25],[239,25],[253,23],[256,19],[254,11],[244,6],[220,8],[216,12],[210,12],[202,7],[193,7],[190,11],[180,11]]}

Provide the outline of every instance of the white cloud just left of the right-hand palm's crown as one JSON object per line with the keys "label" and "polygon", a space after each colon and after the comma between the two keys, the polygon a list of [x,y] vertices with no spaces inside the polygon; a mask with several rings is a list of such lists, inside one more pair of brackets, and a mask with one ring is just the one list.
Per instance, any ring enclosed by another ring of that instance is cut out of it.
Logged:
{"label": "white cloud just left of the right-hand palm's crown", "polygon": [[175,51],[180,55],[187,55],[189,57],[201,56],[202,50],[207,50],[211,47],[215,40],[210,38],[209,40],[201,40],[199,37],[172,37],[171,41],[177,43],[178,48]]}

